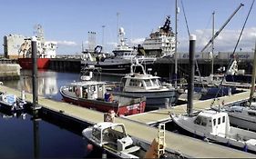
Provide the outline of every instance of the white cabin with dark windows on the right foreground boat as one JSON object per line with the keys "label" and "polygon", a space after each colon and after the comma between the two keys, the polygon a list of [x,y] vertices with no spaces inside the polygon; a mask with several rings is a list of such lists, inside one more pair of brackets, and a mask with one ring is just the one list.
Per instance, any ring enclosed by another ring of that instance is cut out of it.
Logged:
{"label": "white cabin with dark windows on the right foreground boat", "polygon": [[224,135],[230,131],[230,119],[227,113],[203,111],[198,114],[193,123],[196,130],[213,135]]}

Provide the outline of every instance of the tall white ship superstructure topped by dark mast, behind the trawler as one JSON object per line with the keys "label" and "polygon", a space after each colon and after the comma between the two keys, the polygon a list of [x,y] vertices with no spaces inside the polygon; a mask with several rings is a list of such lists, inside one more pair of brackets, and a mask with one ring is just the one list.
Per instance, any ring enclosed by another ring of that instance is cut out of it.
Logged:
{"label": "tall white ship superstructure topped by dark mast, behind the trawler", "polygon": [[158,31],[151,33],[143,42],[143,47],[147,55],[172,56],[175,52],[175,34],[170,27],[169,16],[166,22]]}

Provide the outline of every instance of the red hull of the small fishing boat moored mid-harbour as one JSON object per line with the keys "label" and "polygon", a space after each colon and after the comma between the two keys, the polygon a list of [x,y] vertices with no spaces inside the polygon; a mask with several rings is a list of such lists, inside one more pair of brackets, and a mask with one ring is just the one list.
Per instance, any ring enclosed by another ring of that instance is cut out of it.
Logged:
{"label": "red hull of the small fishing boat moored mid-harbour", "polygon": [[114,110],[118,115],[130,115],[130,114],[140,114],[144,113],[146,101],[141,101],[137,104],[121,105],[116,106],[113,104],[107,104],[105,102],[93,102],[90,100],[77,100],[74,98],[68,98],[63,96],[63,100],[67,103],[77,104],[82,107],[87,107],[89,109],[94,109],[99,112],[108,113],[110,110]]}

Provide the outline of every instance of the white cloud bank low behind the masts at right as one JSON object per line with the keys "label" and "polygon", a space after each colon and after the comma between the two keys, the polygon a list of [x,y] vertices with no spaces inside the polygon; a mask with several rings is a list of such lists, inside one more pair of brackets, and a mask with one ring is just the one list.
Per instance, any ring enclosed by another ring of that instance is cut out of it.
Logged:
{"label": "white cloud bank low behind the masts at right", "polygon": [[[215,31],[216,32],[216,31]],[[195,35],[197,35],[196,49],[200,52],[201,49],[207,45],[211,38],[211,30],[196,30]],[[214,50],[215,52],[225,52],[233,51],[235,45],[237,44],[241,30],[223,30],[220,32],[214,40]],[[256,40],[256,27],[245,28],[243,34],[241,35],[241,40],[237,46],[236,51],[251,51],[255,46]],[[188,52],[189,51],[189,37],[179,37],[178,36],[178,52]],[[210,46],[206,51],[210,51]]]}

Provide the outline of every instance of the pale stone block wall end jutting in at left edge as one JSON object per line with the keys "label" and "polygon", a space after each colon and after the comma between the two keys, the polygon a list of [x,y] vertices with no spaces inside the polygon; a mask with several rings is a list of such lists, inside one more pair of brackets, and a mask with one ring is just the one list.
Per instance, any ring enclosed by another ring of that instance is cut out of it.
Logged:
{"label": "pale stone block wall end jutting in at left edge", "polygon": [[17,64],[0,64],[0,79],[19,79],[20,68]]}

